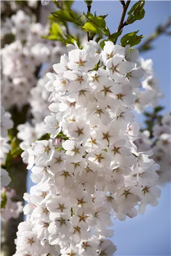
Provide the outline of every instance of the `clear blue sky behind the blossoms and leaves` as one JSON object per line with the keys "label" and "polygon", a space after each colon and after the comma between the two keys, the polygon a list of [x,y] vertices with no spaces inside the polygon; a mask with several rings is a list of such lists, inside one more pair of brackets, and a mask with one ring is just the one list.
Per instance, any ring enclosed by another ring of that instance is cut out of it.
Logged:
{"label": "clear blue sky behind the blossoms and leaves", "polygon": [[[145,17],[124,28],[124,33],[139,30],[140,34],[149,36],[157,24],[166,21],[170,14],[170,1],[146,0]],[[135,1],[132,1],[134,4]],[[83,0],[76,0],[73,9],[82,12],[87,11]],[[119,0],[94,0],[92,12],[97,15],[109,14],[106,17],[107,26],[111,32],[115,32],[119,24],[122,12],[122,4]],[[119,41],[118,41],[119,42]],[[160,36],[154,42],[155,49],[145,52],[142,57],[152,58],[155,74],[159,78],[160,87],[165,94],[160,104],[165,107],[164,112],[170,111],[170,38]],[[137,120],[142,122],[142,116]],[[29,187],[29,184],[28,184]],[[162,187],[162,196],[157,207],[147,207],[145,215],[138,215],[134,219],[125,222],[114,221],[114,244],[117,245],[115,255],[146,256],[146,255],[171,255],[170,237],[170,184]]]}

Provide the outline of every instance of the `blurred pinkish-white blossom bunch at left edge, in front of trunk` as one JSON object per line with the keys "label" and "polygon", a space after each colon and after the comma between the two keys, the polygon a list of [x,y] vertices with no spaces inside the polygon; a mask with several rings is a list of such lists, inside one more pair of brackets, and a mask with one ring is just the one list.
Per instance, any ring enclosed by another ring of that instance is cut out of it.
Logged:
{"label": "blurred pinkish-white blossom bunch at left edge, in front of trunk", "polygon": [[6,195],[6,204],[5,207],[1,209],[0,217],[1,220],[7,222],[9,219],[17,219],[19,214],[21,214],[23,206],[22,202],[15,202],[13,199],[16,196],[16,192],[14,189],[7,190],[6,188],[2,188],[0,191],[0,197],[2,199],[3,194]]}

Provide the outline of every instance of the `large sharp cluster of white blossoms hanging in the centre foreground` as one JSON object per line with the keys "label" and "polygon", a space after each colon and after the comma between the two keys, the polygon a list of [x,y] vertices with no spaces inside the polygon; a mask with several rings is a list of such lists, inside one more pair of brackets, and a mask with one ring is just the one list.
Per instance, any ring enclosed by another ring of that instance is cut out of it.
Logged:
{"label": "large sharp cluster of white blossoms hanging in the centre foreground", "polygon": [[95,41],[69,49],[47,74],[51,139],[21,144],[36,185],[24,194],[15,256],[113,255],[114,217],[135,217],[137,207],[142,214],[160,197],[159,165],[134,144],[139,52],[110,41],[103,51]]}

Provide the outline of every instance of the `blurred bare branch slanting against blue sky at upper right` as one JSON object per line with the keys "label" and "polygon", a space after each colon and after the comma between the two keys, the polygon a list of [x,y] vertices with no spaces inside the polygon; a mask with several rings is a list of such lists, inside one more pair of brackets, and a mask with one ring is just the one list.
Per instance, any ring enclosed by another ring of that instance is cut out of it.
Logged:
{"label": "blurred bare branch slanting against blue sky at upper right", "polygon": [[145,42],[138,48],[139,52],[147,51],[152,48],[150,43],[155,41],[161,34],[168,34],[167,29],[171,26],[171,16],[169,16],[167,22],[164,25],[159,25],[155,32],[153,32]]}

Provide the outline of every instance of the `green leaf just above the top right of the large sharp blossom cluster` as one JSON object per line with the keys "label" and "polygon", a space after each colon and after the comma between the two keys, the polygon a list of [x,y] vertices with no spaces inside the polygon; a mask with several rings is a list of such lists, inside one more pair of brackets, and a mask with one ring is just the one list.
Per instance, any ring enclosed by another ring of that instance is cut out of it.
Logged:
{"label": "green leaf just above the top right of the large sharp blossom cluster", "polygon": [[142,35],[140,36],[137,36],[137,32],[138,31],[134,31],[134,32],[131,32],[131,33],[128,33],[128,34],[125,34],[125,36],[123,36],[121,39],[120,39],[120,43],[123,47],[127,46],[127,44],[130,45],[130,47],[132,46],[135,46],[136,44],[139,44],[141,39],[144,37]]}

